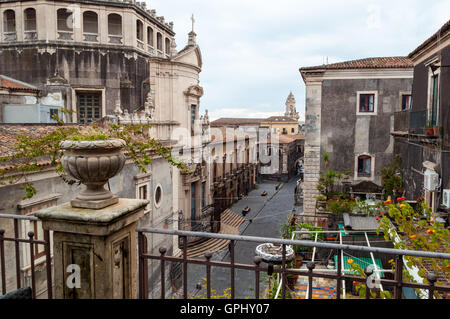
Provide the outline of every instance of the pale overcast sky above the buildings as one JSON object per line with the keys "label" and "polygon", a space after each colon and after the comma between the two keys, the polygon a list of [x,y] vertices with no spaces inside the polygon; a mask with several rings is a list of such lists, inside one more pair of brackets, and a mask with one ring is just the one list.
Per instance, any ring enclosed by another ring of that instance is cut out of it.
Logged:
{"label": "pale overcast sky above the buildings", "polygon": [[174,22],[177,49],[191,14],[203,57],[201,113],[267,117],[292,91],[304,119],[303,66],[405,56],[450,19],[449,0],[151,0]]}

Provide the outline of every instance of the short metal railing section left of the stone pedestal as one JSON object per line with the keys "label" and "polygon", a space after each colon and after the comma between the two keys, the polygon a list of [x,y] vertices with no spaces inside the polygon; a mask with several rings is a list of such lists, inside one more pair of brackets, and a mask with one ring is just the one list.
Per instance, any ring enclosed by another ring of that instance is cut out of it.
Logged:
{"label": "short metal railing section left of the stone pedestal", "polygon": [[[52,299],[52,267],[51,267],[51,255],[50,255],[50,232],[48,230],[43,231],[43,240],[38,240],[35,238],[35,233],[33,231],[29,231],[27,236],[28,238],[21,238],[20,229],[19,229],[19,221],[30,221],[32,223],[36,223],[39,221],[37,217],[34,216],[22,216],[22,215],[12,215],[12,214],[0,214],[0,219],[10,219],[13,221],[14,228],[14,236],[6,237],[5,230],[0,228],[0,278],[1,278],[1,293],[5,295],[7,293],[7,269],[6,269],[6,258],[14,258],[15,259],[15,277],[16,277],[16,289],[22,288],[22,280],[21,280],[21,247],[20,244],[28,244],[30,254],[30,272],[31,272],[31,289],[32,289],[32,297],[36,298],[37,285],[36,285],[36,270],[35,270],[35,249],[38,247],[37,245],[43,245],[44,248],[44,257],[46,263],[46,285],[47,285],[47,298]],[[14,257],[6,256],[5,243],[12,242],[14,243],[14,249],[12,254]],[[50,265],[50,266],[48,266]]]}

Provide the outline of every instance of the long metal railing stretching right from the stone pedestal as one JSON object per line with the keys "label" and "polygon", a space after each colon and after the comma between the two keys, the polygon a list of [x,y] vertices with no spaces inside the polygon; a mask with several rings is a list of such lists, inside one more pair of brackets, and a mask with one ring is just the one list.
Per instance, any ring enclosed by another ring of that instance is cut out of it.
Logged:
{"label": "long metal railing stretching right from the stone pedestal", "polygon": [[[165,229],[157,229],[151,227],[141,227],[137,229],[138,233],[138,259],[139,259],[139,298],[147,299],[149,297],[149,287],[148,287],[148,260],[159,260],[160,261],[160,284],[161,284],[161,299],[164,299],[166,296],[166,275],[165,275],[165,265],[166,262],[173,263],[181,263],[183,269],[183,297],[185,299],[188,298],[188,272],[187,266],[188,264],[197,264],[197,265],[205,265],[206,267],[206,297],[211,298],[211,267],[223,267],[230,269],[230,287],[231,287],[231,298],[235,297],[235,271],[236,269],[242,270],[250,270],[254,272],[255,278],[255,298],[260,298],[260,273],[268,272],[269,275],[272,273],[277,273],[281,275],[282,282],[286,283],[286,276],[288,274],[291,275],[300,275],[307,276],[309,287],[312,287],[313,278],[328,278],[336,280],[336,299],[341,299],[341,288],[342,284],[347,281],[352,282],[361,282],[366,284],[366,298],[370,298],[369,287],[367,287],[367,277],[354,276],[348,274],[348,270],[342,269],[342,252],[345,251],[354,251],[354,252],[365,252],[369,254],[377,253],[377,254],[386,254],[395,256],[395,271],[394,271],[394,279],[379,279],[379,284],[383,286],[393,287],[394,294],[393,297],[395,299],[402,298],[402,288],[416,288],[416,289],[424,289],[428,291],[428,298],[432,299],[435,291],[439,292],[450,292],[450,286],[437,286],[436,275],[429,273],[428,274],[428,282],[429,284],[421,284],[421,283],[413,283],[413,282],[405,282],[403,281],[403,267],[404,261],[403,256],[411,256],[411,257],[422,257],[422,258],[439,258],[439,259],[450,259],[450,254],[447,253],[439,253],[439,252],[427,252],[427,251],[413,251],[413,250],[400,250],[400,249],[392,249],[392,248],[383,248],[383,247],[367,247],[367,246],[357,246],[357,245],[348,245],[348,244],[333,244],[333,243],[324,243],[324,242],[313,242],[308,240],[288,240],[288,239],[276,239],[276,238],[265,238],[265,237],[251,237],[251,236],[242,236],[242,235],[228,235],[228,234],[213,234],[213,233],[201,233],[201,232],[190,232],[190,231],[180,231],[180,230],[165,230]],[[230,262],[224,261],[215,261],[211,260],[212,253],[207,252],[204,254],[204,259],[194,259],[187,257],[187,246],[183,245],[182,248],[182,256],[166,256],[167,248],[160,247],[159,255],[151,254],[147,250],[147,238],[146,234],[163,234],[163,235],[172,235],[179,236],[181,242],[186,242],[189,236],[197,236],[204,238],[216,238],[216,239],[226,239],[230,241],[229,244],[229,252],[230,252]],[[244,242],[254,242],[254,243],[272,243],[279,244],[282,247],[282,262],[281,267],[273,267],[273,265],[268,264],[267,267],[263,267],[261,262],[263,261],[261,257],[254,257],[254,264],[242,264],[235,262],[235,253],[234,246],[237,241]],[[307,264],[307,269],[305,270],[294,270],[287,268],[286,261],[286,247],[287,246],[303,246],[303,247],[311,247],[311,248],[326,248],[332,249],[336,251],[337,255],[337,269],[336,274],[329,273],[327,271],[320,272],[320,269],[317,271],[314,270],[316,264],[314,262],[309,262]],[[365,269],[366,276],[370,276],[373,273],[370,269]],[[286,297],[286,284],[283,284],[281,287],[281,297],[285,299]],[[309,289],[307,292],[308,299],[312,299],[312,289]]]}

